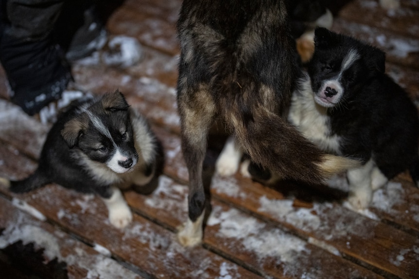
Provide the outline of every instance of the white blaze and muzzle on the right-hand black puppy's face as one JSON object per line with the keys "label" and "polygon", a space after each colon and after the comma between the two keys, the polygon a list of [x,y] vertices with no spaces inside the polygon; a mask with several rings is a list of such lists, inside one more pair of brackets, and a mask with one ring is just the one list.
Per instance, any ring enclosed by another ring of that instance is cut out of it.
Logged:
{"label": "white blaze and muzzle on the right-hand black puppy's face", "polygon": [[359,58],[360,55],[355,49],[349,50],[342,61],[339,73],[333,79],[324,81],[321,89],[315,94],[314,100],[316,103],[323,107],[333,107],[339,103],[345,93],[341,83],[343,73]]}

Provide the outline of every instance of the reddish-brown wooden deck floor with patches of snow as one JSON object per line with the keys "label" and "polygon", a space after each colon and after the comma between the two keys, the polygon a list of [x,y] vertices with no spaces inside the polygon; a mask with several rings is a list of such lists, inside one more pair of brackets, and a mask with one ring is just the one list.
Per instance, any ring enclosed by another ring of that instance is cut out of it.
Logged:
{"label": "reddish-brown wooden deck floor with patches of snow", "polygon": [[[401,0],[400,9],[388,12],[376,0],[344,2],[333,7],[332,30],[384,49],[387,72],[419,105],[419,1]],[[125,193],[134,222],[117,230],[98,197],[57,185],[12,195],[0,185],[0,277],[419,278],[419,189],[405,174],[378,190],[362,213],[345,205],[342,179],[321,189],[271,189],[240,175],[209,176],[203,245],[187,249],[176,242],[188,191],[175,104],[180,3],[126,0],[112,12],[110,33],[134,36],[143,45],[138,65],[73,65],[75,80],[87,90],[119,88],[149,118],[166,157],[157,190],[150,196]],[[2,72],[0,96],[0,176],[24,178],[36,167],[48,127],[7,101]],[[209,173],[222,136],[212,138]]]}

